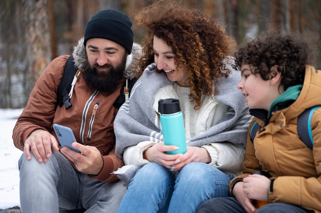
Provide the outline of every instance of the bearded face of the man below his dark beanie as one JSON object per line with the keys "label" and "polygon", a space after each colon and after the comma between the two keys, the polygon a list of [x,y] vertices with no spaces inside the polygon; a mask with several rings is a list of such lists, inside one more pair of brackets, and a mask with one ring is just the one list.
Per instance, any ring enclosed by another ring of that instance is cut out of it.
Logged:
{"label": "bearded face of the man below his dark beanie", "polygon": [[94,89],[112,91],[124,75],[127,54],[123,46],[103,38],[86,43],[88,66],[83,70],[86,82]]}

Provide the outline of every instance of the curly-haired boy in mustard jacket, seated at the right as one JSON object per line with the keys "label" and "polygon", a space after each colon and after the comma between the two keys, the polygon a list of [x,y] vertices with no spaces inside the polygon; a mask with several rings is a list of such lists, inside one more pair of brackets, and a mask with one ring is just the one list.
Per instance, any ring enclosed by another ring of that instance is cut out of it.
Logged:
{"label": "curly-haired boy in mustard jacket, seated at the right", "polygon": [[[310,57],[303,39],[271,31],[236,53],[237,88],[255,116],[250,130],[255,122],[259,129],[247,139],[243,174],[230,183],[233,196],[207,200],[198,213],[321,212],[321,108],[315,107],[321,106],[321,70],[308,65]],[[297,127],[298,115],[311,107],[312,149]]]}

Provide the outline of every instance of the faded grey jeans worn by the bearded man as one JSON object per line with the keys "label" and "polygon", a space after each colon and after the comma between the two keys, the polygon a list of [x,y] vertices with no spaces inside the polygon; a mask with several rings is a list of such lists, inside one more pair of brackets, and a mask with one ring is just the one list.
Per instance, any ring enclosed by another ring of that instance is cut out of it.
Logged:
{"label": "faded grey jeans worn by the bearded man", "polygon": [[85,208],[86,212],[116,212],[126,187],[123,182],[106,183],[76,171],[60,152],[48,162],[38,163],[32,155],[19,159],[20,203],[24,213],[59,212]]}

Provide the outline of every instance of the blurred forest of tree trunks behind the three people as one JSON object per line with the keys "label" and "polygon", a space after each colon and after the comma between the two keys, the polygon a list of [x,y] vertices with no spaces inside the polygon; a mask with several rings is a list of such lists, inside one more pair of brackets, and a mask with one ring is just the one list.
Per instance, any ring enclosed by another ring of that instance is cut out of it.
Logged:
{"label": "blurred forest of tree trunks behind the three people", "polygon": [[[98,10],[113,8],[129,15],[158,0],[1,0],[0,108],[25,107],[30,91],[50,61],[71,54],[86,23]],[[173,0],[174,1],[174,0]],[[272,26],[280,33],[310,38],[312,65],[321,68],[319,0],[180,0],[217,18],[237,43]],[[162,11],[159,11],[162,12]],[[135,24],[134,41],[144,31]]]}

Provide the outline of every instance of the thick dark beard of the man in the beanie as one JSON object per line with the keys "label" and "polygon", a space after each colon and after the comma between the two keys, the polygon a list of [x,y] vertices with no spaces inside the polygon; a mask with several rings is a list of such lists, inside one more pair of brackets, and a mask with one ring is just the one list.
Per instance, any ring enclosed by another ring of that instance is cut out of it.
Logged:
{"label": "thick dark beard of the man in the beanie", "polygon": [[[124,76],[124,70],[126,67],[127,55],[124,54],[122,61],[114,67],[111,64],[105,64],[99,66],[97,63],[92,66],[87,61],[87,66],[83,70],[85,81],[93,89],[99,91],[113,91],[119,84],[119,81]],[[88,59],[87,59],[88,60]],[[96,67],[109,68],[108,71],[97,71]]]}

